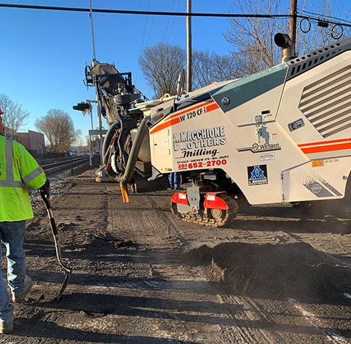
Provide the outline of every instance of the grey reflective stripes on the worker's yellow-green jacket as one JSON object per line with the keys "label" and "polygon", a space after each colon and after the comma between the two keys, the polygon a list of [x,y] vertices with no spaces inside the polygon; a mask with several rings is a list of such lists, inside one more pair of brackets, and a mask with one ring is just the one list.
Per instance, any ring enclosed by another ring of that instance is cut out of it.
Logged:
{"label": "grey reflective stripes on the worker's yellow-green jacket", "polygon": [[16,187],[21,188],[24,184],[27,184],[40,173],[43,173],[44,170],[41,166],[37,167],[34,171],[26,175],[23,178],[23,182],[21,180],[14,180],[13,170],[12,170],[12,163],[13,163],[13,146],[12,140],[6,140],[6,155],[5,155],[5,163],[6,163],[6,180],[0,180],[0,187]]}

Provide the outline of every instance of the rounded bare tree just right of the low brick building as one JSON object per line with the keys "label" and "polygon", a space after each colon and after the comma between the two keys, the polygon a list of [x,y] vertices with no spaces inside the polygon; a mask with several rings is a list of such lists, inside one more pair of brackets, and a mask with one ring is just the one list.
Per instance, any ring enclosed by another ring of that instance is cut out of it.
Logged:
{"label": "rounded bare tree just right of the low brick building", "polygon": [[46,135],[53,153],[61,155],[70,151],[70,146],[76,139],[76,131],[68,113],[51,109],[46,116],[37,119],[34,125]]}

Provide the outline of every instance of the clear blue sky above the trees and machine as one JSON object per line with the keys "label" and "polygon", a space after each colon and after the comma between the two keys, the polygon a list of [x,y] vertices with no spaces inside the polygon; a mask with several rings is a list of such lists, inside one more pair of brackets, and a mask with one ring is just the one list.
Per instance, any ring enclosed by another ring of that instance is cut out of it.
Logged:
{"label": "clear blue sky above the trees and machine", "polygon": [[[89,8],[89,0],[0,1],[37,6]],[[192,0],[193,12],[228,13],[234,0]],[[290,0],[286,0],[289,12]],[[186,0],[92,0],[93,8],[186,12]],[[37,130],[36,118],[52,109],[72,117],[83,137],[91,129],[91,117],[83,117],[72,106],[95,99],[95,90],[84,86],[84,68],[93,61],[91,19],[88,12],[35,10],[0,7],[0,93],[8,95],[30,112],[23,131]],[[146,85],[137,64],[142,49],[158,42],[186,48],[185,17],[155,15],[93,14],[95,53],[100,62],[115,62],[120,72],[131,72],[133,84],[146,97]],[[222,37],[229,27],[225,17],[193,17],[193,49],[227,54],[230,44]],[[103,119],[103,125],[104,123]],[[97,111],[93,108],[93,126]]]}

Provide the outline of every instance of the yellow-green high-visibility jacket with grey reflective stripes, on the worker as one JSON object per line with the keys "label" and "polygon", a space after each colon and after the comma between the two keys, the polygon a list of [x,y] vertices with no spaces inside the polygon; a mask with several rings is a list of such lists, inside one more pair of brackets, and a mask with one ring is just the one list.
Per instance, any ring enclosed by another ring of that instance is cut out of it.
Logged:
{"label": "yellow-green high-visibility jacket with grey reflective stripes, on the worker", "polygon": [[0,222],[32,218],[28,187],[45,182],[44,170],[24,146],[0,135]]}

